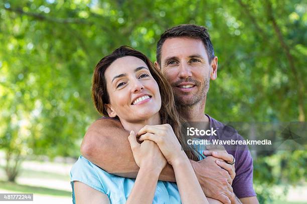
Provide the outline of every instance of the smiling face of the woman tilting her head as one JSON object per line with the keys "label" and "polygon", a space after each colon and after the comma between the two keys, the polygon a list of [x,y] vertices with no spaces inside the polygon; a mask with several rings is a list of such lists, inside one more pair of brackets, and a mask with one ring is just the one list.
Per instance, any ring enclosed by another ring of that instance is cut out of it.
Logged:
{"label": "smiling face of the woman tilting her head", "polygon": [[134,56],[116,59],[105,71],[110,117],[137,122],[159,114],[161,95],[146,63]]}

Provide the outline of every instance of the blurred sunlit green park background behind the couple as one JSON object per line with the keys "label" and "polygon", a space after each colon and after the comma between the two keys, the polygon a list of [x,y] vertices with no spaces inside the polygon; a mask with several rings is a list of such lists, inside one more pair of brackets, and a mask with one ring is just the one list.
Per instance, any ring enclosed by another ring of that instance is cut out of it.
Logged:
{"label": "blurred sunlit green park background behind the couple", "polygon": [[[95,64],[128,44],[155,60],[165,29],[209,28],[220,121],[305,121],[305,0],[0,0],[0,192],[70,203],[69,171],[88,126]],[[259,151],[260,203],[307,203],[306,150]],[[12,203],[12,202],[10,202]]]}

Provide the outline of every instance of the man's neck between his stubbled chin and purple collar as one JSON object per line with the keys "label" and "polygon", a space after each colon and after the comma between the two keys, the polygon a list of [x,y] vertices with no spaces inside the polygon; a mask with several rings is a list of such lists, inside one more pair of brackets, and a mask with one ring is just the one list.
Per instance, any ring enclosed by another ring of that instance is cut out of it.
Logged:
{"label": "man's neck between his stubbled chin and purple collar", "polygon": [[209,117],[205,114],[206,97],[201,102],[193,106],[180,107],[180,114],[190,122],[209,122]]}

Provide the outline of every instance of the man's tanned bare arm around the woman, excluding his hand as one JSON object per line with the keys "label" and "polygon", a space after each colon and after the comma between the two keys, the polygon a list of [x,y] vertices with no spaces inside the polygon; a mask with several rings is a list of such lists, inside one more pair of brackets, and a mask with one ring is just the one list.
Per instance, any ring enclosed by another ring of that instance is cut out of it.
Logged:
{"label": "man's tanned bare arm around the woman, excluding his hand", "polygon": [[[88,128],[82,144],[81,154],[109,173],[136,178],[136,165],[128,141],[129,132],[114,119],[98,119]],[[119,158],[119,159],[118,159]],[[159,179],[175,182],[171,165],[167,165]]]}

